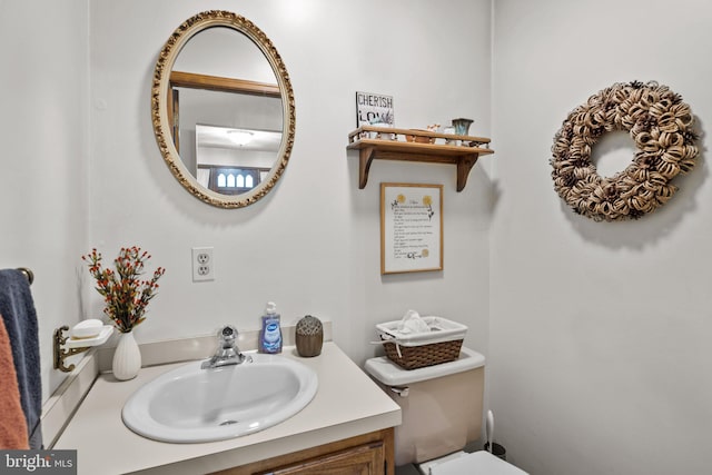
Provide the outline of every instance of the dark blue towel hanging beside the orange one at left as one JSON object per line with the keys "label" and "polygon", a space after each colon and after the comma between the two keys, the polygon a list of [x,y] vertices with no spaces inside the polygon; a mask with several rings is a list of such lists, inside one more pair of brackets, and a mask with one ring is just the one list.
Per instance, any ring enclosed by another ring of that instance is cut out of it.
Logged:
{"label": "dark blue towel hanging beside the orange one at left", "polygon": [[42,448],[42,382],[37,311],[30,284],[19,270],[0,270],[0,315],[12,347],[30,448],[39,449]]}

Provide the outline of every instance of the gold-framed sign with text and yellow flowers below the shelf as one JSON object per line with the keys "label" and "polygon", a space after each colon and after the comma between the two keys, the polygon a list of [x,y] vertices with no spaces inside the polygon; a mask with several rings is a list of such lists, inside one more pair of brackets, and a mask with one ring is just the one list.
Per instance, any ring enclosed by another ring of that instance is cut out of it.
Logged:
{"label": "gold-framed sign with text and yellow flowers below the shelf", "polygon": [[443,185],[380,184],[380,274],[443,270]]}

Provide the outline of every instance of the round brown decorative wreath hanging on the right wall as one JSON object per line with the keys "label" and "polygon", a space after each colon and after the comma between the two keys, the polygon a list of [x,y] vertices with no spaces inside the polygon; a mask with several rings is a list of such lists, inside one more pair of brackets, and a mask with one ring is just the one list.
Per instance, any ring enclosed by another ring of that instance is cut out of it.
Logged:
{"label": "round brown decorative wreath hanging on the right wall", "polygon": [[[626,130],[637,151],[623,171],[602,177],[591,162],[599,137]],[[596,221],[637,219],[678,190],[670,181],[694,167],[694,118],[666,86],[615,83],[574,109],[554,136],[554,189],[576,214]]]}

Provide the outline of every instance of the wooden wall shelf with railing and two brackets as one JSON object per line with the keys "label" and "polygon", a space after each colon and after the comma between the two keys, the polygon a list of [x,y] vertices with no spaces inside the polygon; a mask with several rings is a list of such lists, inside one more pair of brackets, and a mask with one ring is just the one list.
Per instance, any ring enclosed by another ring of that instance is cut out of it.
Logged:
{"label": "wooden wall shelf with railing and two brackets", "polygon": [[[455,140],[456,145],[445,144],[446,140]],[[479,156],[494,154],[488,138],[373,126],[363,126],[350,132],[346,149],[358,150],[359,189],[368,182],[370,164],[380,159],[456,165],[457,191],[462,191]]]}

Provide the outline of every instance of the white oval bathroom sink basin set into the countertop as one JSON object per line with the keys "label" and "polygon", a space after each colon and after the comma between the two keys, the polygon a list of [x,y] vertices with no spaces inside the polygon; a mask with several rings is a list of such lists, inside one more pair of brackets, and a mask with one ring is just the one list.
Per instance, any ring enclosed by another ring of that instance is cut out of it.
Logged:
{"label": "white oval bathroom sink basin set into the countertop", "polygon": [[224,441],[279,424],[314,398],[312,368],[284,356],[250,356],[241,365],[201,369],[192,362],[162,374],[131,395],[123,424],[161,442]]}

